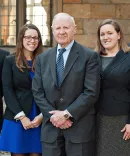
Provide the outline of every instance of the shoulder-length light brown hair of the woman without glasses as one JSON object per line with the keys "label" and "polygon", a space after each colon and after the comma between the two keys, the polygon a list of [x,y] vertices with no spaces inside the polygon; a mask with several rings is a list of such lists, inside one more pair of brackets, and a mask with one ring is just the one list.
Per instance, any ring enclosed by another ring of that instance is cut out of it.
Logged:
{"label": "shoulder-length light brown hair of the woman without glasses", "polygon": [[120,33],[120,39],[118,41],[119,49],[122,49],[126,53],[129,52],[130,47],[128,47],[127,44],[124,41],[124,34],[122,32],[122,29],[121,29],[120,25],[113,19],[103,20],[99,24],[98,29],[97,29],[97,43],[96,43],[95,51],[100,52],[100,53],[105,55],[105,48],[102,46],[101,41],[100,41],[100,29],[101,29],[102,26],[104,26],[106,24],[112,25],[115,28],[116,32]]}

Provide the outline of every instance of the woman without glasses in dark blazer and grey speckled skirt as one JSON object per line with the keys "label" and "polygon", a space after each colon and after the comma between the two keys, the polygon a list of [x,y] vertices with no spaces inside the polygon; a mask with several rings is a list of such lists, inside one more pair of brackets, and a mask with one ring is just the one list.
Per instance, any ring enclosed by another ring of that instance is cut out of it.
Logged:
{"label": "woman without glasses in dark blazer and grey speckled skirt", "polygon": [[101,64],[97,108],[96,156],[130,155],[130,48],[117,21],[106,19],[97,30]]}

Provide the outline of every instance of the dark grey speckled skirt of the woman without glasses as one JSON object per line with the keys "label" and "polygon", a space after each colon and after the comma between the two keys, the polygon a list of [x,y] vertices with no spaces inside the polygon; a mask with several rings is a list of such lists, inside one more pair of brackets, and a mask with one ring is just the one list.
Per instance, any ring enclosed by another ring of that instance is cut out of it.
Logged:
{"label": "dark grey speckled skirt of the woman without glasses", "polygon": [[130,156],[130,140],[123,140],[121,132],[127,119],[127,115],[97,115],[95,156]]}

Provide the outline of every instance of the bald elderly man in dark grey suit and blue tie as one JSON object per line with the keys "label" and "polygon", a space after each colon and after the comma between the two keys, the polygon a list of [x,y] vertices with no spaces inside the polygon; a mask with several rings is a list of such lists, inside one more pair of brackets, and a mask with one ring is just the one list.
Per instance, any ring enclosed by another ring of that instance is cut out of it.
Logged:
{"label": "bald elderly man in dark grey suit and blue tie", "polygon": [[32,87],[44,115],[43,156],[94,156],[98,56],[74,40],[69,14],[55,15],[52,31],[58,44],[37,57]]}

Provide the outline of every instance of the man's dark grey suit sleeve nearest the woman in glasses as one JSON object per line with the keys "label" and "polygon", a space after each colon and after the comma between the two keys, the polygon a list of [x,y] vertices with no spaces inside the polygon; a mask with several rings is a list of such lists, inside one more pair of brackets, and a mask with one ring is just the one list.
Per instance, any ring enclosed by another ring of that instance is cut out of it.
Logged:
{"label": "man's dark grey suit sleeve nearest the woman in glasses", "polygon": [[44,86],[42,83],[41,64],[40,64],[39,56],[36,59],[35,76],[32,82],[32,91],[33,91],[33,96],[36,101],[36,104],[40,108],[40,111],[42,112],[42,114],[50,118],[51,114],[49,114],[49,111],[55,110],[55,108],[46,99],[46,96],[44,93]]}

